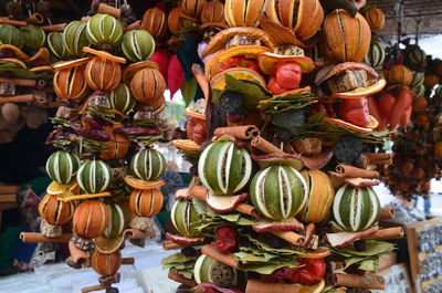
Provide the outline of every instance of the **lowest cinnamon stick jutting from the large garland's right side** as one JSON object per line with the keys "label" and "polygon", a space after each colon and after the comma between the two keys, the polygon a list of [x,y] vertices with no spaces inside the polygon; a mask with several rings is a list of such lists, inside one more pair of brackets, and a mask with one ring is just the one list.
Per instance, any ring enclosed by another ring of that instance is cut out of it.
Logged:
{"label": "lowest cinnamon stick jutting from the large garland's right side", "polygon": [[334,285],[347,287],[362,287],[372,290],[385,290],[386,280],[376,274],[366,273],[365,275],[336,273]]}

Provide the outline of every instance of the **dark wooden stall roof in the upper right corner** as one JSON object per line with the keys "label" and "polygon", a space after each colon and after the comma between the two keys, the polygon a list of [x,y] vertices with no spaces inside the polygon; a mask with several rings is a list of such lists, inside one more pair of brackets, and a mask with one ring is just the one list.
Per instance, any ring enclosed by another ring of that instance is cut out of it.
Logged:
{"label": "dark wooden stall roof in the upper right corner", "polygon": [[[386,25],[381,34],[396,35],[398,18],[396,10],[402,6],[402,33],[442,33],[442,0],[367,0],[386,13]],[[419,27],[418,27],[419,23]]]}

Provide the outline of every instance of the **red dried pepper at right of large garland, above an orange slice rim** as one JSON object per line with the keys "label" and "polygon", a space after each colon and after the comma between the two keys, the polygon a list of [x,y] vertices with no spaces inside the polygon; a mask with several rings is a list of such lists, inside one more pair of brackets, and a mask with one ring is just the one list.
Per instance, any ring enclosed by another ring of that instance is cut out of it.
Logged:
{"label": "red dried pepper at right of large garland, above an orange slice rim", "polygon": [[351,124],[367,127],[370,123],[367,97],[346,98],[340,103],[341,117]]}

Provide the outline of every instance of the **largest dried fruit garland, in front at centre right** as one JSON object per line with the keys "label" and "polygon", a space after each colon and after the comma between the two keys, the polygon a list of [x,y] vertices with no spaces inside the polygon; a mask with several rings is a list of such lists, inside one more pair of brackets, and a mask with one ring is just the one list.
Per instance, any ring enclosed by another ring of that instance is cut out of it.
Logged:
{"label": "largest dried fruit garland, in front at centre right", "polygon": [[361,63],[381,21],[299,2],[225,1],[231,28],[200,44],[206,96],[186,109],[189,139],[173,142],[194,177],[164,243],[181,249],[162,260],[177,292],[385,289],[377,263],[393,245],[381,240],[403,232],[379,228],[393,216],[373,167],[391,155],[370,153],[388,132],[367,97],[386,81]]}

